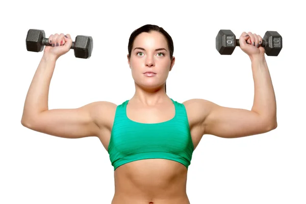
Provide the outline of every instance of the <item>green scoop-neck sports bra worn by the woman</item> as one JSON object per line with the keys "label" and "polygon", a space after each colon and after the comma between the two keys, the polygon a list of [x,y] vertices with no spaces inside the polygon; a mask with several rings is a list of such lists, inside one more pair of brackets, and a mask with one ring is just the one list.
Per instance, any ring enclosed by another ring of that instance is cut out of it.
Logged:
{"label": "green scoop-neck sports bra worn by the woman", "polygon": [[117,106],[108,154],[114,170],[143,159],[168,159],[186,166],[194,150],[185,106],[171,98],[175,115],[160,123],[140,123],[126,116],[129,100]]}

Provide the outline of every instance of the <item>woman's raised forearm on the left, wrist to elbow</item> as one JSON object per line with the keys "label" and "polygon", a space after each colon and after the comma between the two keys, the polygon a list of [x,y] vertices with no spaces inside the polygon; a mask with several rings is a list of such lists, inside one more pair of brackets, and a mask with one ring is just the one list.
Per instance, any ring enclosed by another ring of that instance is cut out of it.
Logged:
{"label": "woman's raised forearm on the left, wrist to elbow", "polygon": [[48,94],[56,59],[43,56],[34,74],[27,97],[25,98],[22,121],[48,110]]}

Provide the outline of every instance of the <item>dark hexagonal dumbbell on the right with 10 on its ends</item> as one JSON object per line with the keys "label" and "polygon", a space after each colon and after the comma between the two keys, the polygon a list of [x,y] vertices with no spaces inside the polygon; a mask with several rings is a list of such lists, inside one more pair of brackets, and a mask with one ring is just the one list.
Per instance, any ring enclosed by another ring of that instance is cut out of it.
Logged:
{"label": "dark hexagonal dumbbell on the right with 10 on its ends", "polygon": [[[216,37],[216,49],[221,55],[232,55],[239,39],[231,30],[220,30]],[[278,56],[283,48],[283,38],[276,31],[267,31],[261,44],[267,56]]]}

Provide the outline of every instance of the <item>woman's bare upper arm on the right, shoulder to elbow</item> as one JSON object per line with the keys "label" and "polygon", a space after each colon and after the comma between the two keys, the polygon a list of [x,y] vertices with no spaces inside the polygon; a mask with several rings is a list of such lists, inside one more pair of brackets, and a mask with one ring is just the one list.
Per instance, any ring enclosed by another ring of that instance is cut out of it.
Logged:
{"label": "woman's bare upper arm on the right, shoulder to elbow", "polygon": [[191,99],[184,104],[191,130],[200,135],[237,138],[266,133],[276,127],[274,120],[254,111],[222,107],[205,99]]}

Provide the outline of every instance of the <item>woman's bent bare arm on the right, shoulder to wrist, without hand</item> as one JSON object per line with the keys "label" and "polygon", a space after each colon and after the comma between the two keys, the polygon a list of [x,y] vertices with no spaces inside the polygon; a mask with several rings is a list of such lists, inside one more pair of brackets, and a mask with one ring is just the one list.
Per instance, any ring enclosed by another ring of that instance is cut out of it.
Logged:
{"label": "woman's bent bare arm on the right, shoulder to wrist, without hand", "polygon": [[251,58],[251,67],[254,80],[251,110],[222,107],[203,99],[185,102],[192,126],[199,127],[202,135],[237,138],[276,128],[276,100],[267,63],[264,58]]}

